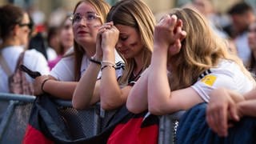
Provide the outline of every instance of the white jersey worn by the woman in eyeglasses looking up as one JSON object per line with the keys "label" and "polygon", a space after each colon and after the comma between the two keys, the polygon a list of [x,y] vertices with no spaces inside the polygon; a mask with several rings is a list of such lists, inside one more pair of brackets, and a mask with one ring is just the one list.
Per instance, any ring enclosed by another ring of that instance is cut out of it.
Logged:
{"label": "white jersey worn by the woman in eyeglasses looking up", "polygon": [[[69,52],[72,53],[73,49]],[[124,61],[120,57],[120,55],[115,51],[115,63],[117,66],[116,69],[116,77],[119,78],[122,75]],[[120,66],[120,64],[122,66]],[[90,58],[86,56],[86,54],[83,55],[82,58],[82,65],[80,68],[80,75],[85,73],[86,68],[90,65]],[[54,78],[58,79],[58,81],[65,81],[65,82],[74,82],[74,54],[62,58],[56,66],[50,71],[50,75]],[[100,71],[98,73],[98,78],[101,78],[102,72]]]}

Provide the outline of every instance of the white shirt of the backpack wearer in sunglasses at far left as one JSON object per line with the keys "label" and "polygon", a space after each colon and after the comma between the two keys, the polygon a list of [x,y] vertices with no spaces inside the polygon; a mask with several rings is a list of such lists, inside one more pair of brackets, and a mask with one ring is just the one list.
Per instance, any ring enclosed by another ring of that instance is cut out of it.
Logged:
{"label": "white shirt of the backpack wearer in sunglasses at far left", "polygon": [[[14,74],[19,55],[23,50],[22,46],[8,46],[2,49],[2,57],[6,60],[7,66],[10,68],[12,74]],[[26,50],[23,58],[23,64],[30,70],[38,71],[41,74],[49,74],[50,71],[46,58],[37,50]],[[0,92],[9,93],[8,75],[2,69],[1,65],[0,78]],[[30,78],[27,74],[26,79],[29,82],[33,82],[33,78]]]}

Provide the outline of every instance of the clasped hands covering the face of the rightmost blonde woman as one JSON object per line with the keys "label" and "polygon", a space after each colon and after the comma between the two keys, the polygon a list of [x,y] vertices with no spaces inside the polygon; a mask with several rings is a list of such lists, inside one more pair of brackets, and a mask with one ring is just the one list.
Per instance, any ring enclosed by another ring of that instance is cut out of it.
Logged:
{"label": "clasped hands covering the face of the rightmost blonde woman", "polygon": [[186,37],[186,32],[182,30],[182,20],[176,15],[166,15],[155,26],[154,47],[169,49],[171,55],[177,54],[181,49],[181,42]]}

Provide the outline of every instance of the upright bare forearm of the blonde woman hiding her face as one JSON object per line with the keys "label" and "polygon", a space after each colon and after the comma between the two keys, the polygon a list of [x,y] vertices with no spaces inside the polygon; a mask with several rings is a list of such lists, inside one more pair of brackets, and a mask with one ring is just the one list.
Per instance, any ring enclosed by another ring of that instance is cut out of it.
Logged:
{"label": "upright bare forearm of the blonde woman hiding her face", "polygon": [[170,98],[170,86],[167,77],[167,50],[154,49],[148,76],[149,110],[154,114],[164,112]]}

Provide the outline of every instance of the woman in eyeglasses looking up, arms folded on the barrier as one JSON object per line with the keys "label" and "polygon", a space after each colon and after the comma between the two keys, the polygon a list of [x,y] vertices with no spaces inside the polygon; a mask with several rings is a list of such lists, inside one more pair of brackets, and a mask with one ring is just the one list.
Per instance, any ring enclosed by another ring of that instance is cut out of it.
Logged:
{"label": "woman in eyeglasses looking up, arms folded on the barrier", "polygon": [[[67,52],[50,75],[43,75],[35,79],[35,94],[44,92],[58,98],[72,99],[74,89],[78,84],[82,74],[90,68],[89,66],[97,62],[96,57],[96,36],[99,27],[105,22],[106,14],[110,6],[104,0],[82,0],[74,8],[74,13],[70,17],[74,32],[74,49]],[[122,58],[116,54],[116,61],[122,62]],[[116,70],[119,76],[122,70]],[[101,74],[97,78],[100,78]],[[98,83],[91,83],[86,89],[86,94],[92,94],[98,89]]]}

